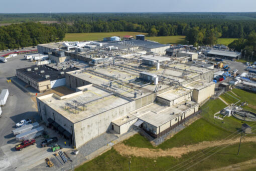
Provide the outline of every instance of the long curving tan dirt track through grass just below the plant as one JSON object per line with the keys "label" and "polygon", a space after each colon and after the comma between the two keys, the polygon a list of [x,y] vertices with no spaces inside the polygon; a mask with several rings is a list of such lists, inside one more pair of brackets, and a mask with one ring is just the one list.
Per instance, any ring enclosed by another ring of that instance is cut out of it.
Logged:
{"label": "long curving tan dirt track through grass just below the plant", "polygon": [[[174,156],[181,157],[183,154],[192,151],[198,151],[208,147],[224,145],[224,144],[234,144],[238,143],[240,138],[219,140],[219,141],[203,141],[193,145],[184,145],[181,147],[173,147],[166,150],[163,149],[149,149],[149,148],[138,148],[133,146],[126,146],[123,143],[117,143],[114,145],[114,149],[118,151],[121,155],[135,155],[142,157],[159,157],[159,156]],[[242,142],[256,141],[256,137],[244,137]]]}

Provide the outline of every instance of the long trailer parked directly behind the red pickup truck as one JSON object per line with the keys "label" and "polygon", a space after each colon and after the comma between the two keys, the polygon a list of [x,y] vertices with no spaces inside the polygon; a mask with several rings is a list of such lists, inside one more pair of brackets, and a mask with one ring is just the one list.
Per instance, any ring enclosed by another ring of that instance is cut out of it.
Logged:
{"label": "long trailer parked directly behind the red pickup truck", "polygon": [[27,132],[16,135],[16,140],[23,141],[28,139],[34,139],[43,135],[43,133],[44,133],[44,128],[40,126],[40,127],[31,129]]}

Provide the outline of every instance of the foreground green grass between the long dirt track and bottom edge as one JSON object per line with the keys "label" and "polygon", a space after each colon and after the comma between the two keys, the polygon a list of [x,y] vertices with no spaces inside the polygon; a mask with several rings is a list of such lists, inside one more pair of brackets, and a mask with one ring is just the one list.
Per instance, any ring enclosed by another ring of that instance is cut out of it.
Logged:
{"label": "foreground green grass between the long dirt track and bottom edge", "polygon": [[[178,170],[184,170],[185,168],[191,166],[192,164],[198,162],[198,164],[194,165],[193,167],[189,168],[189,170],[209,170],[212,168],[219,168],[223,166],[227,166],[230,164],[246,161],[249,159],[252,159],[255,157],[255,147],[256,144],[254,142],[248,142],[248,143],[241,143],[241,150],[239,155],[236,155],[237,153],[237,147],[238,144],[229,145],[226,148],[219,150],[209,148],[208,150],[204,151],[195,151],[190,152],[188,154],[183,155],[181,158],[175,158],[172,156],[167,157],[156,157],[156,158],[147,158],[147,157],[135,157],[131,156],[131,170],[133,171],[139,171],[139,170],[147,170],[147,171],[155,171],[155,170],[174,170],[179,168],[180,166],[184,166]],[[212,150],[212,151],[210,151]],[[207,152],[209,151],[209,152]],[[213,154],[213,152],[217,152],[214,155],[210,156],[209,158],[205,158],[205,156],[208,156],[210,154]],[[197,155],[193,159],[192,163],[188,163],[185,165],[185,163],[176,166],[177,164],[186,161],[192,156],[195,156],[196,154],[200,153],[200,155]],[[204,154],[204,155],[203,155]],[[201,157],[199,157],[201,156]],[[205,158],[205,160],[200,161],[201,159]],[[200,161],[200,162],[199,162]],[[176,167],[175,167],[176,166]],[[172,168],[173,167],[173,168]],[[97,156],[96,158],[92,159],[91,161],[88,161],[84,163],[83,165],[77,167],[75,169],[76,171],[82,171],[82,170],[129,170],[129,156],[122,156],[120,155],[116,150],[113,148],[106,151],[105,153]]]}

